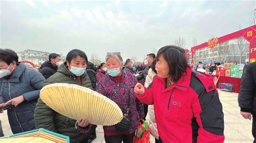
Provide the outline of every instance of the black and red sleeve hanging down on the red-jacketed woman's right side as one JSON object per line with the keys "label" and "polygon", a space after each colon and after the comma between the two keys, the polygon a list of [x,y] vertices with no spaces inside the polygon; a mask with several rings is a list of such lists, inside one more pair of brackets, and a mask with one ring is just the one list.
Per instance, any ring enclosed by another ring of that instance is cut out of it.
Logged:
{"label": "black and red sleeve hanging down on the red-jacketed woman's right side", "polygon": [[208,82],[206,78],[191,76],[190,87],[194,90],[191,106],[194,115],[192,139],[193,142],[224,142],[223,108],[218,91],[213,88],[214,83]]}

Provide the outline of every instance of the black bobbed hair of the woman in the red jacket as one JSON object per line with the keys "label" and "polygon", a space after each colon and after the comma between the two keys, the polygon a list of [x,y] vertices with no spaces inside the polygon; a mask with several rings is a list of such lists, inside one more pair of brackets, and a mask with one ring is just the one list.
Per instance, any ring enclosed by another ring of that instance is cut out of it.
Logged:
{"label": "black bobbed hair of the woman in the red jacket", "polygon": [[168,63],[171,82],[177,83],[189,67],[185,50],[178,46],[164,46],[157,52],[157,60],[160,54],[163,54],[165,61]]}

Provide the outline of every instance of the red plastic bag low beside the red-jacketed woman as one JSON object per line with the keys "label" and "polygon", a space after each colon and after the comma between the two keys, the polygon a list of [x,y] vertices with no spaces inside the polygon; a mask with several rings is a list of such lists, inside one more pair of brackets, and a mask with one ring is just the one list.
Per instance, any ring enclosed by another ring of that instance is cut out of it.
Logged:
{"label": "red plastic bag low beside the red-jacketed woman", "polygon": [[[150,132],[149,132],[149,125],[148,123],[146,123],[145,120],[143,119],[140,119],[143,121],[143,124],[140,123],[139,121],[139,125],[137,127],[137,130],[136,130],[136,133],[135,133],[135,136],[133,137],[133,142],[134,143],[150,143]],[[146,130],[144,130],[144,127],[143,125],[145,126],[147,124],[147,127],[146,127]],[[139,135],[140,137],[138,138],[138,133],[139,132],[143,132],[142,135]]]}

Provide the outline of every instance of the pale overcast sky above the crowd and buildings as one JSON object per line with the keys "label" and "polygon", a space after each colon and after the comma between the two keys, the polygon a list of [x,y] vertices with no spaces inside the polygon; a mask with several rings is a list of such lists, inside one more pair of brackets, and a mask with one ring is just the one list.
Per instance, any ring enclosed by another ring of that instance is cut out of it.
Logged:
{"label": "pale overcast sky above the crowd and buildings", "polygon": [[1,48],[121,52],[142,60],[178,37],[192,47],[250,26],[255,1],[0,1]]}

